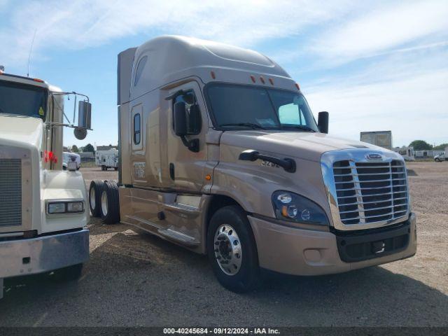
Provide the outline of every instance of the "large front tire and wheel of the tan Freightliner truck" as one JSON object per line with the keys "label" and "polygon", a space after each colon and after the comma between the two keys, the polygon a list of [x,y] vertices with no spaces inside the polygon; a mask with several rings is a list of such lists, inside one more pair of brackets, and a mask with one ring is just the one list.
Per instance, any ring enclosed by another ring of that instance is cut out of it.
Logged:
{"label": "large front tire and wheel of the tan Freightliner truck", "polygon": [[207,254],[216,278],[225,288],[245,293],[258,287],[257,248],[251,225],[241,207],[223,207],[211,217]]}

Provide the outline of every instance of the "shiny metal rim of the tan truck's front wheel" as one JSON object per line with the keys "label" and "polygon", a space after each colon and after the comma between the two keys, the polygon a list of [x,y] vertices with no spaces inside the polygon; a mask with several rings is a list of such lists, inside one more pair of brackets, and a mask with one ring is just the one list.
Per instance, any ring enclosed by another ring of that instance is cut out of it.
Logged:
{"label": "shiny metal rim of the tan truck's front wheel", "polygon": [[221,270],[227,275],[235,275],[241,268],[243,251],[237,231],[228,224],[220,225],[215,232],[215,258]]}

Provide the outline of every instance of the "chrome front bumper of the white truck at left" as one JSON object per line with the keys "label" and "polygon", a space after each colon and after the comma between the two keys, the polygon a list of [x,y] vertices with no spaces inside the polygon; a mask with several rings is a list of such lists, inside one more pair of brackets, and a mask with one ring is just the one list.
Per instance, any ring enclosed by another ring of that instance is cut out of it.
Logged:
{"label": "chrome front bumper of the white truck at left", "polygon": [[49,272],[89,258],[89,230],[0,241],[0,279]]}

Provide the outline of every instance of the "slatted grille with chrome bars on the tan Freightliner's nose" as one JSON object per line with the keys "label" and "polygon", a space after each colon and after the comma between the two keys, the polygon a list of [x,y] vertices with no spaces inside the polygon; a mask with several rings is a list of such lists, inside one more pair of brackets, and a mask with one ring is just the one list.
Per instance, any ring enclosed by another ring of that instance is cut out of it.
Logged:
{"label": "slatted grille with chrome bars on the tan Freightliner's nose", "polygon": [[336,161],[332,165],[344,225],[391,221],[407,214],[404,162]]}

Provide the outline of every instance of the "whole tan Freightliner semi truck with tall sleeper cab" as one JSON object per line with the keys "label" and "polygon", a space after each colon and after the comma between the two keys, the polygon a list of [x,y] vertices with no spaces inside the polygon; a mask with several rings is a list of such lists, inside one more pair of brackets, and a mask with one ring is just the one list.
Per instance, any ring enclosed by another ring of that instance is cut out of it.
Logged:
{"label": "whole tan Freightliner semi truck with tall sleeper cab", "polygon": [[207,254],[226,288],[416,253],[400,155],[328,136],[258,52],[181,36],[121,52],[118,124],[118,186],[92,182],[92,213]]}

